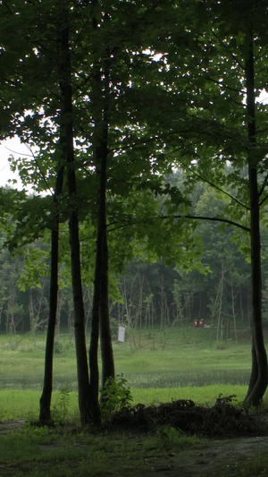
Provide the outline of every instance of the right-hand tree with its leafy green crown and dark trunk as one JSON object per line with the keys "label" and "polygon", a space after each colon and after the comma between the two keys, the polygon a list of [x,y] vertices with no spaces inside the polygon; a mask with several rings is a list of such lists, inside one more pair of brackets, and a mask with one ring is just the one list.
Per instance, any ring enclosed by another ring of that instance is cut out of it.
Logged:
{"label": "right-hand tree with its leafy green crown and dark trunk", "polygon": [[[186,13],[180,13],[177,5],[174,18],[174,23],[180,19],[188,24],[188,35],[184,38],[185,51],[182,52],[181,38],[178,41],[174,25],[169,25],[166,53],[162,55],[166,61],[159,68],[160,74],[156,72],[155,75],[158,96],[163,97],[164,92],[168,92],[172,98],[165,104],[168,105],[165,115],[162,109],[165,118],[165,124],[161,124],[162,153],[173,154],[174,162],[188,170],[188,191],[193,183],[189,177],[196,177],[229,197],[227,217],[215,217],[217,220],[250,232],[254,344],[252,379],[245,405],[257,405],[267,386],[259,232],[259,207],[266,200],[264,124],[267,124],[267,117],[262,106],[258,106],[258,113],[255,113],[255,94],[265,84],[267,6],[263,1],[255,0],[231,4],[225,0],[217,4],[197,2],[191,4]],[[155,45],[159,45],[159,38]],[[192,47],[191,55],[188,55],[189,47]],[[157,51],[157,48],[151,47],[151,50]],[[188,81],[186,89],[185,81]],[[180,98],[185,99],[183,115]],[[172,115],[168,114],[168,108],[172,109]],[[145,106],[143,114],[146,113]],[[151,136],[157,136],[159,117],[147,116],[147,132]],[[258,128],[255,124],[261,117],[262,126]],[[228,176],[225,174],[227,161],[232,166]],[[248,180],[243,176],[246,166]],[[258,176],[262,178],[261,186]],[[231,192],[228,191],[230,186]],[[235,207],[231,208],[231,204]],[[247,217],[250,217],[249,227]]]}

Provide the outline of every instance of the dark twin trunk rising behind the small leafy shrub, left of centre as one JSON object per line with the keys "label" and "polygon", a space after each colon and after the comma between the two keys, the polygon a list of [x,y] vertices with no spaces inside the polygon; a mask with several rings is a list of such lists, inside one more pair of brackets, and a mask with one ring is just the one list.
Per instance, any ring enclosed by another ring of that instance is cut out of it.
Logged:
{"label": "dark twin trunk rising behind the small leafy shrub, left of centre", "polygon": [[[97,13],[98,1],[93,3],[93,30],[98,29]],[[95,13],[94,13],[95,12]],[[107,17],[105,16],[105,19]],[[99,190],[97,201],[97,234],[96,234],[96,266],[94,278],[94,304],[92,310],[92,330],[89,367],[90,387],[96,394],[96,347],[100,328],[102,353],[102,385],[106,379],[114,378],[113,346],[110,330],[108,306],[108,245],[106,232],[106,187],[107,187],[107,158],[108,158],[108,105],[109,105],[109,52],[105,52],[105,59],[99,58],[94,66],[92,75],[92,110],[94,121],[94,156],[96,175],[99,176]],[[108,58],[108,59],[107,59]]]}

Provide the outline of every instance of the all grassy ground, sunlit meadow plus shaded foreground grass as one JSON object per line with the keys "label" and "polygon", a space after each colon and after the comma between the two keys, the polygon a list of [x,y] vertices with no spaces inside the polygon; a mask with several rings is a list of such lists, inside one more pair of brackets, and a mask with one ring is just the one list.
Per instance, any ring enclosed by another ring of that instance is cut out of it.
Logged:
{"label": "all grassy ground, sunlit meadow plus shaded foreground grass", "polygon": [[[215,341],[210,328],[172,328],[164,333],[144,330],[113,342],[116,373],[127,379],[133,405],[192,399],[212,405],[219,395],[236,396],[240,405],[247,392],[251,366],[249,330],[239,329],[239,342]],[[89,337],[89,336],[88,336]],[[0,336],[0,474],[22,477],[96,477],[104,475],[178,475],[197,473],[199,456],[215,455],[214,442],[188,436],[172,427],[155,432],[130,430],[88,432],[80,429],[75,349],[71,336],[57,336],[54,353],[54,428],[32,425],[38,419],[46,336]],[[264,403],[264,407],[267,403]],[[58,420],[58,421],[57,421]],[[13,423],[15,422],[15,424]],[[228,441],[225,441],[228,442]],[[220,442],[222,446],[222,442]],[[241,439],[244,449],[244,439]],[[188,452],[189,449],[189,452]],[[213,450],[212,450],[213,449]],[[241,452],[242,452],[241,450]],[[233,451],[231,450],[231,456]],[[260,475],[267,469],[266,447],[242,459],[222,454],[219,477]],[[211,463],[210,463],[211,460]],[[214,459],[208,459],[214,474]],[[202,475],[211,475],[204,472]]]}

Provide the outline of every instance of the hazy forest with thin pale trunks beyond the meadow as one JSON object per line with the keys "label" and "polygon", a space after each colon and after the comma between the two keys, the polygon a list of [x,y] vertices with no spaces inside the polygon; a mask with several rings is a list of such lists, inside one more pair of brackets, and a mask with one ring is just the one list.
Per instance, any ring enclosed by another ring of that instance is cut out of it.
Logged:
{"label": "hazy forest with thin pale trunks beyond the meadow", "polygon": [[[170,183],[179,183],[183,174],[168,177]],[[221,195],[206,185],[195,192],[195,210],[205,215],[209,209],[212,217],[221,215],[224,202]],[[188,225],[191,227],[191,223]],[[268,321],[266,229],[263,230],[264,274],[264,327]],[[179,265],[167,267],[163,260],[146,261],[139,254],[128,261],[121,275],[111,274],[110,316],[113,338],[117,339],[118,325],[131,330],[172,326],[194,327],[195,319],[204,319],[205,326],[219,328],[217,338],[230,336],[230,327],[250,327],[250,264],[247,256],[238,250],[232,238],[234,232],[208,221],[199,221],[194,227],[193,240],[201,240],[202,250],[198,260],[202,270],[185,271]],[[35,339],[38,331],[46,328],[49,307],[49,244],[38,241],[27,252],[11,257],[8,250],[1,251],[1,330],[25,333]],[[58,302],[57,332],[73,335],[73,303],[71,278],[68,268],[61,265]],[[93,281],[84,280],[86,326],[90,328],[93,299]]]}

